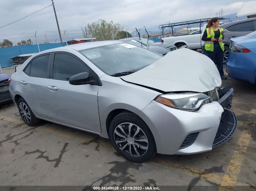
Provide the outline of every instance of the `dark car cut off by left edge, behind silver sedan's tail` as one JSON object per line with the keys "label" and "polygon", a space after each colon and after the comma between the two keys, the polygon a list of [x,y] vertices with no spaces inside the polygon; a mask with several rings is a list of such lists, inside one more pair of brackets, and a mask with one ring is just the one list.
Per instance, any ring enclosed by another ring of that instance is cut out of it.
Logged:
{"label": "dark car cut off by left edge, behind silver sedan's tail", "polygon": [[5,104],[12,102],[12,98],[9,92],[9,79],[11,78],[8,74],[0,74],[0,107]]}

